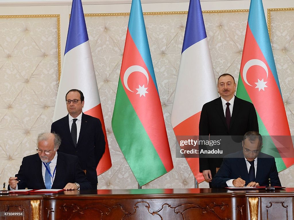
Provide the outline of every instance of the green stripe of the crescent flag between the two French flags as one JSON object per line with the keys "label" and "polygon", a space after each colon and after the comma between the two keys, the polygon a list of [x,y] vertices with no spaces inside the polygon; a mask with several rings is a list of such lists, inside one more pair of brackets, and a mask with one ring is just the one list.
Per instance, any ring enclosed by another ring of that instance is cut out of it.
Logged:
{"label": "green stripe of the crescent flag between the two French flags", "polygon": [[167,172],[123,89],[121,79],[118,81],[112,129],[140,186]]}

